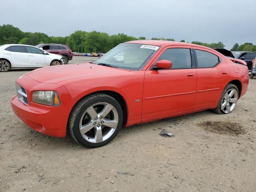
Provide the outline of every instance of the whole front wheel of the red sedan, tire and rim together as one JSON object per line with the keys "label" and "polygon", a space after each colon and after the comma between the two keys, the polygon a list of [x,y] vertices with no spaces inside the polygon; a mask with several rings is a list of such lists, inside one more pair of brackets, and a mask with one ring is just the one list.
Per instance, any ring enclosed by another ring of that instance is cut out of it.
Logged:
{"label": "whole front wheel of the red sedan, tire and rim together", "polygon": [[120,104],[107,94],[92,94],[80,100],[68,120],[70,134],[76,142],[88,148],[106,145],[122,127]]}

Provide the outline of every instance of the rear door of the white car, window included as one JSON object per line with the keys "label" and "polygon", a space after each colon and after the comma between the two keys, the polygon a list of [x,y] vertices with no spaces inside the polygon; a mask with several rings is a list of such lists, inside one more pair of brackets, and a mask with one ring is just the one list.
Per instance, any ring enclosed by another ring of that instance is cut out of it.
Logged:
{"label": "rear door of the white car, window included", "polygon": [[14,45],[6,48],[3,53],[10,60],[12,67],[27,67],[28,53],[25,46]]}

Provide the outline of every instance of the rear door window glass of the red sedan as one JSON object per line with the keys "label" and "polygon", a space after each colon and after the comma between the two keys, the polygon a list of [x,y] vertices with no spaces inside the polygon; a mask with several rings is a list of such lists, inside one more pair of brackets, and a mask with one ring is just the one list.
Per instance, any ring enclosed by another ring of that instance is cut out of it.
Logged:
{"label": "rear door window glass of the red sedan", "polygon": [[198,68],[211,68],[218,64],[219,57],[202,50],[196,50]]}

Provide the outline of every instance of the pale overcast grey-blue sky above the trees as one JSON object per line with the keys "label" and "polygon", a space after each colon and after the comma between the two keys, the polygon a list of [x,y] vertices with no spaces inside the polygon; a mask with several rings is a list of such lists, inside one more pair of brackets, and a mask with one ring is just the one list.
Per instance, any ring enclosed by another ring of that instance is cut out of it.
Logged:
{"label": "pale overcast grey-blue sky above the trees", "polygon": [[68,36],[76,30],[147,39],[256,44],[256,0],[1,0],[0,25]]}

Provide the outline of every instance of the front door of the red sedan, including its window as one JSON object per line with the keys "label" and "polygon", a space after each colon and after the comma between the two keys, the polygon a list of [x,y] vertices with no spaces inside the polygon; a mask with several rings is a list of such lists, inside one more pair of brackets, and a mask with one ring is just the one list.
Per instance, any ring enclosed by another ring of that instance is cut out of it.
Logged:
{"label": "front door of the red sedan, including its window", "polygon": [[[172,46],[173,47],[173,46]],[[146,70],[143,89],[142,121],[191,110],[196,95],[197,73],[190,48],[165,48],[156,58],[170,60],[168,70]]]}

